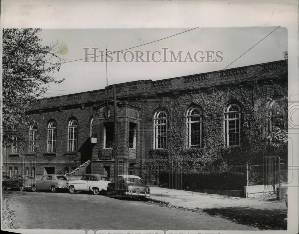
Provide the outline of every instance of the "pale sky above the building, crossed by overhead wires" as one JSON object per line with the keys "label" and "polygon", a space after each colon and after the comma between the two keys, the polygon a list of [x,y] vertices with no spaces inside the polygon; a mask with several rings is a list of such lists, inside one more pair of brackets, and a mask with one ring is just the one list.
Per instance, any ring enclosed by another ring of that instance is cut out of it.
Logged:
{"label": "pale sky above the building, crossed by overhead wires", "polygon": [[[232,62],[226,69],[282,60],[283,51],[288,50],[288,31],[277,27],[43,29],[42,43],[58,43],[57,51],[67,61],[55,73],[65,81],[51,85],[43,96],[103,89],[106,48],[123,50],[108,58],[108,85],[223,70]],[[176,60],[180,53],[181,59]],[[85,59],[94,54],[104,56]],[[82,60],[74,61],[78,59]]]}

